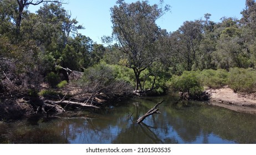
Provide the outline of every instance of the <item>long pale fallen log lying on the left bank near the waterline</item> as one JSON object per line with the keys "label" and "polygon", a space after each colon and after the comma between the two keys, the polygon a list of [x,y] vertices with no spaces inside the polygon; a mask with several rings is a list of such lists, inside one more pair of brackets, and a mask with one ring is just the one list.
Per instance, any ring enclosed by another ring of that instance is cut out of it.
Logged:
{"label": "long pale fallen log lying on the left bank near the waterline", "polygon": [[94,106],[94,105],[86,105],[84,103],[81,103],[81,102],[74,102],[74,101],[63,101],[63,100],[60,100],[60,101],[51,101],[51,100],[45,100],[44,101],[45,103],[47,104],[54,104],[54,105],[62,105],[62,106],[80,106],[80,107],[90,107],[90,108],[96,108],[96,109],[100,109],[100,107],[98,106]]}

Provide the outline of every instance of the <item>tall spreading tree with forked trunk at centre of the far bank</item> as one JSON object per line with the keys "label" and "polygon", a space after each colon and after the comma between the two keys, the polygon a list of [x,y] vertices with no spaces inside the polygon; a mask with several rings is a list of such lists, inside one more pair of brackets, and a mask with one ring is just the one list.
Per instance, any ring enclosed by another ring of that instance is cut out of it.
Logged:
{"label": "tall spreading tree with forked trunk at centre of the far bank", "polygon": [[141,71],[147,69],[154,61],[161,58],[157,49],[160,28],[156,20],[170,10],[170,6],[150,5],[149,1],[125,3],[116,2],[111,8],[112,35],[126,59],[126,66],[134,70],[136,91],[142,91]]}

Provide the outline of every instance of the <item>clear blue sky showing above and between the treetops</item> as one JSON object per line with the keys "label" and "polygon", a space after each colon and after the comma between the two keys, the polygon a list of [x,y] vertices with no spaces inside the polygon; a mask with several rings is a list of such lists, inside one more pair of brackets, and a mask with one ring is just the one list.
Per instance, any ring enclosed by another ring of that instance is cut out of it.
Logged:
{"label": "clear blue sky showing above and between the treetops", "polygon": [[[126,3],[137,0],[125,0]],[[112,23],[110,8],[116,0],[64,0],[66,10],[71,11],[72,18],[85,27],[79,33],[90,37],[94,42],[101,44],[103,35],[111,35]],[[157,25],[168,32],[177,30],[186,20],[203,18],[204,14],[212,14],[211,20],[219,22],[222,17],[236,17],[240,19],[240,12],[245,8],[245,0],[165,0],[171,6],[171,12],[157,20]],[[150,4],[158,4],[158,0],[149,0]],[[28,9],[34,12],[38,6]]]}

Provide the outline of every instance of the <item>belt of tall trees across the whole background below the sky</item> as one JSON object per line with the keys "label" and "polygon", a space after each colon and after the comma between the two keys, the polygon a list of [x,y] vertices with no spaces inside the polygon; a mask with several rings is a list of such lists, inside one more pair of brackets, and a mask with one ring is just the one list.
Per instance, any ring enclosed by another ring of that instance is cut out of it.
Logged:
{"label": "belt of tall trees across the whole background below the sky", "polygon": [[[30,5],[38,4],[42,4],[38,11],[29,12]],[[170,11],[163,1],[151,5],[119,0],[110,8],[112,36],[105,41],[114,44],[109,46],[80,34],[84,26],[63,4],[0,0],[2,92],[38,89],[50,75],[69,81],[66,68],[84,72],[99,64],[114,68],[113,81],[129,82],[136,92],[166,92],[166,81],[184,71],[255,69],[254,0],[245,1],[241,19],[223,17],[214,22],[206,13],[202,19],[184,21],[174,32],[156,24]]]}

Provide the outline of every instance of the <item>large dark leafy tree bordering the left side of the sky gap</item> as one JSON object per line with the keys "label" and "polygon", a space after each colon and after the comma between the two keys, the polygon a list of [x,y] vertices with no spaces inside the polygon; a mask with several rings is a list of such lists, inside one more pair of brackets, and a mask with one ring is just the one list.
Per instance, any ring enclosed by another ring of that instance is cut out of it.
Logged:
{"label": "large dark leafy tree bordering the left side of the sky gap", "polygon": [[89,37],[78,33],[83,27],[71,18],[71,13],[60,3],[45,3],[36,13],[32,38],[37,40],[42,53],[53,56],[57,64],[73,70],[88,66],[93,43]]}

